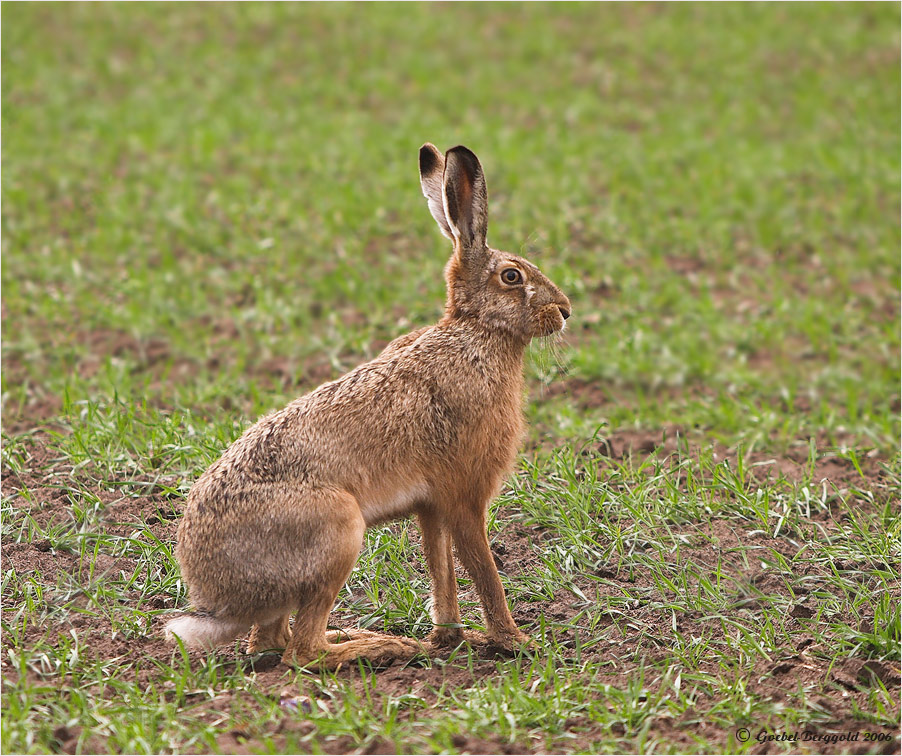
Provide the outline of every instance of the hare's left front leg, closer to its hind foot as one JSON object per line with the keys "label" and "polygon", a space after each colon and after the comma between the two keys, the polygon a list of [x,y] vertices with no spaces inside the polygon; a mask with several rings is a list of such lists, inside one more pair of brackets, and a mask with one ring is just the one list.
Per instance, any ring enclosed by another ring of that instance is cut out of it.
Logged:
{"label": "hare's left front leg, closer to its hind foot", "polygon": [[432,621],[435,629],[429,636],[435,646],[452,646],[463,639],[460,605],[457,603],[457,578],[451,553],[451,533],[441,515],[432,511],[419,513],[423,533],[423,551],[432,576]]}

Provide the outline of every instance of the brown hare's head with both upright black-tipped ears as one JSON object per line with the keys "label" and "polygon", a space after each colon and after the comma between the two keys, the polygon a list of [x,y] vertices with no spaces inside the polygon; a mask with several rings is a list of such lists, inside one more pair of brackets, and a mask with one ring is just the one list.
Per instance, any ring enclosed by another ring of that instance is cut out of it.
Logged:
{"label": "brown hare's head with both upright black-tipped ears", "polygon": [[488,195],[479,159],[466,147],[442,156],[420,148],[420,183],[442,233],[454,242],[445,268],[447,314],[529,341],[563,330],[570,300],[532,263],[486,243]]}

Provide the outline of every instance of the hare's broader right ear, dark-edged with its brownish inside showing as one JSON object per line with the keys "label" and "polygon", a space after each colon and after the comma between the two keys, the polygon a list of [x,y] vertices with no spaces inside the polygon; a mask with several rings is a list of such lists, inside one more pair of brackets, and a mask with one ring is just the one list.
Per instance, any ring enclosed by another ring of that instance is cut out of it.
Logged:
{"label": "hare's broader right ear, dark-edged with its brownish inside showing", "polygon": [[445,216],[464,259],[472,252],[481,257],[489,200],[479,158],[466,147],[453,147],[445,153],[444,201]]}

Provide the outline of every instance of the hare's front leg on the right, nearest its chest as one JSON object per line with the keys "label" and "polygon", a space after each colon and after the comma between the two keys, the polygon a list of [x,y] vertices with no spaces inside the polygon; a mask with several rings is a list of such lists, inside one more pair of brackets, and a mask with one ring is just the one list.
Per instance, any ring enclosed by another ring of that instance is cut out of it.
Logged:
{"label": "hare's front leg on the right, nearest its chest", "polygon": [[495,559],[486,533],[485,507],[461,512],[453,531],[457,555],[476,585],[482,601],[489,640],[502,648],[513,650],[529,644],[531,639],[514,624],[504,588],[495,567]]}

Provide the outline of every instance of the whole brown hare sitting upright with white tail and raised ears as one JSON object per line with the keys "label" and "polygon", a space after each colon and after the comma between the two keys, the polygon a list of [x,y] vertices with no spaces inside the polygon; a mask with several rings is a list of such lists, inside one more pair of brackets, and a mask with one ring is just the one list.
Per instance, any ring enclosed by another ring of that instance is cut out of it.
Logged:
{"label": "whole brown hare sitting upright with white tail and raised ears", "polygon": [[452,543],[488,642],[529,643],[507,606],[486,511],[524,433],[525,348],[563,330],[570,302],[535,265],[487,245],[476,155],[459,146],[442,156],[427,143],[419,158],[429,210],[454,243],[444,316],[262,418],[197,480],[175,552],[197,611],[169,622],[170,640],[211,648],[252,628],[249,652],[284,648],[282,660],[299,666],[414,656],[412,638],[326,627],[364,530],[416,515],[432,646],[464,638]]}

